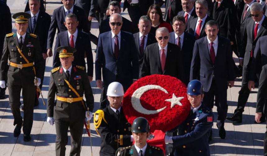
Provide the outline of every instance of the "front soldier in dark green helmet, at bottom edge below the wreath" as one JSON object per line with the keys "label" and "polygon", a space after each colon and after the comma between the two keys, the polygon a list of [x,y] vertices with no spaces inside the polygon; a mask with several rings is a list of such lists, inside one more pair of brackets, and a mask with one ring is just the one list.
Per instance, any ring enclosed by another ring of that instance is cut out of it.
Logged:
{"label": "front soldier in dark green helmet, at bottom edge below the wreath", "polygon": [[119,148],[116,156],[164,156],[163,150],[147,144],[149,132],[150,128],[147,119],[143,117],[134,119],[132,135],[135,143],[132,146]]}

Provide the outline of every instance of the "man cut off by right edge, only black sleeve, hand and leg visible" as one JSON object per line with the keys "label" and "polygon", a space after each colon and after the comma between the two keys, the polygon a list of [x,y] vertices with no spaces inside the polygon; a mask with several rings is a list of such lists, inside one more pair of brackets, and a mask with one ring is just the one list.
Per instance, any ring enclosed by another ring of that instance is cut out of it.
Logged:
{"label": "man cut off by right edge, only black sleeve, hand and leg visible", "polygon": [[[259,90],[257,94],[257,106],[256,106],[256,114],[255,114],[255,121],[257,123],[261,123],[261,118],[265,118],[267,121],[266,116],[266,95],[267,95],[267,65],[262,66],[262,70],[260,73],[260,81],[259,81]],[[265,115],[264,115],[265,114]],[[267,156],[267,130],[264,136],[264,156]]]}

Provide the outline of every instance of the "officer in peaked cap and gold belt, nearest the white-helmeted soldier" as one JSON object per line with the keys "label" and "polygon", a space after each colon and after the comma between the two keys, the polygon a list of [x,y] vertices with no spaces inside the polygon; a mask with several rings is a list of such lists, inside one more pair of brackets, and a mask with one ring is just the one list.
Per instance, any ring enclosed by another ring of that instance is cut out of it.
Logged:
{"label": "officer in peaked cap and gold belt, nearest the white-helmeted soldier", "polygon": [[[84,119],[92,118],[94,108],[93,93],[85,68],[72,64],[75,51],[75,48],[68,46],[58,47],[61,66],[52,69],[50,76],[47,122],[56,125],[56,156],[65,156],[69,128],[70,155],[80,155]],[[83,100],[84,95],[86,102]]]}

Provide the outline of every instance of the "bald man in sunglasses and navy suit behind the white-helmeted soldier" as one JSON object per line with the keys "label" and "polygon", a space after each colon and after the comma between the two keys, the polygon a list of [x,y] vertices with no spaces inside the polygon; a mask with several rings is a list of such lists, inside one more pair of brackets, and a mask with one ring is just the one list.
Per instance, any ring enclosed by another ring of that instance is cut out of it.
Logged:
{"label": "bald man in sunglasses and navy suit behind the white-helmeted soldier", "polygon": [[[121,15],[112,14],[109,22],[111,31],[99,35],[95,61],[96,81],[98,88],[104,86],[102,94],[105,95],[111,82],[120,82],[126,91],[138,79],[139,65],[134,37],[131,33],[120,31],[122,24]],[[105,99],[102,98],[101,101]],[[101,108],[106,107],[105,102],[101,105]]]}

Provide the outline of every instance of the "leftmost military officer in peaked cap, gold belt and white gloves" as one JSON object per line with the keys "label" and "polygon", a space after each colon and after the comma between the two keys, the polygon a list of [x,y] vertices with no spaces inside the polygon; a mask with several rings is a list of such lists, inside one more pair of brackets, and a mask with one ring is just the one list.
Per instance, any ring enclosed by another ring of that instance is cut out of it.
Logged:
{"label": "leftmost military officer in peaked cap, gold belt and white gloves", "polygon": [[[41,80],[42,52],[37,35],[26,33],[28,19],[24,12],[12,16],[15,19],[16,33],[7,34],[0,62],[0,87],[5,88],[7,80],[9,104],[14,116],[14,137],[18,137],[23,126],[24,141],[30,141],[33,124],[34,97]],[[8,59],[9,69],[6,68]],[[7,77],[6,77],[7,73]],[[37,82],[38,81],[38,82]],[[24,117],[20,116],[20,91],[24,103]]]}

